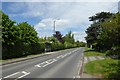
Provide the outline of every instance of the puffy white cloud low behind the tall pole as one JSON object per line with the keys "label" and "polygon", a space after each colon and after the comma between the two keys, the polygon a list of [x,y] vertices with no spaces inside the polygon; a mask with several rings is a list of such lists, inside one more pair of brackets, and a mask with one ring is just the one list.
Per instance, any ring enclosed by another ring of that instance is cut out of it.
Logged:
{"label": "puffy white cloud low behind the tall pole", "polygon": [[38,32],[38,36],[39,37],[52,36],[54,21],[56,30],[64,30],[64,27],[69,23],[69,21],[65,19],[60,20],[55,20],[52,18],[43,19],[34,26],[35,30]]}

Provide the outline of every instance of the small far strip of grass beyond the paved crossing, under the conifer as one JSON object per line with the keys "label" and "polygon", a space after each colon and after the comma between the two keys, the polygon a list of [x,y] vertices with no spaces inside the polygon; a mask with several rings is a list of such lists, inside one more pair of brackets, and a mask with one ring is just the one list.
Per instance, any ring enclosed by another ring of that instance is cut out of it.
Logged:
{"label": "small far strip of grass beyond the paved crossing, under the conifer", "polygon": [[105,56],[104,53],[97,52],[97,51],[95,51],[94,49],[91,49],[91,48],[85,48],[84,54],[87,57],[88,56]]}

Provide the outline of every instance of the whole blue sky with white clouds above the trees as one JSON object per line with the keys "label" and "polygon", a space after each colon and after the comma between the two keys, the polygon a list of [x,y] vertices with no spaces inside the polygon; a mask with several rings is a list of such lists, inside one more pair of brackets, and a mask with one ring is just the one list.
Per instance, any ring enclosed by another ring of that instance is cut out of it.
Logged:
{"label": "whole blue sky with white clouds above the trees", "polygon": [[2,11],[17,23],[28,22],[33,25],[39,37],[52,36],[53,22],[56,21],[56,31],[63,35],[72,31],[79,41],[85,41],[85,30],[91,24],[88,17],[101,11],[118,11],[118,2],[115,0],[71,1],[5,0],[2,2]]}

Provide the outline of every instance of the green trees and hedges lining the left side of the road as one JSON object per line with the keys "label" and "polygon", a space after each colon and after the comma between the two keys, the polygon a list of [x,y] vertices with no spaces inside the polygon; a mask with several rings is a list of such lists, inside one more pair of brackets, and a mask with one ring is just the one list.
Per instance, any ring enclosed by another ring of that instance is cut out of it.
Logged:
{"label": "green trees and hedges lining the left side of the road", "polygon": [[47,47],[46,43],[50,44],[48,46],[51,49],[50,51],[85,46],[83,42],[75,42],[72,32],[63,37],[64,44],[53,36],[39,38],[34,26],[27,22],[18,24],[2,11],[0,11],[0,14],[2,15],[2,21],[0,21],[0,29],[2,29],[2,59],[43,53]]}

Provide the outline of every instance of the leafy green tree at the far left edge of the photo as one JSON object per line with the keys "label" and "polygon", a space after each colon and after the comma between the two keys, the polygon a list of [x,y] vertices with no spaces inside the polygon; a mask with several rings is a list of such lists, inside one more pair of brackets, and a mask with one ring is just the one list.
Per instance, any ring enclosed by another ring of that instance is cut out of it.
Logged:
{"label": "leafy green tree at the far left edge of the photo", "polygon": [[14,45],[15,39],[13,39],[14,35],[14,29],[17,29],[15,27],[15,21],[12,21],[9,19],[9,17],[4,14],[2,11],[2,38],[3,38],[3,44],[4,45]]}

